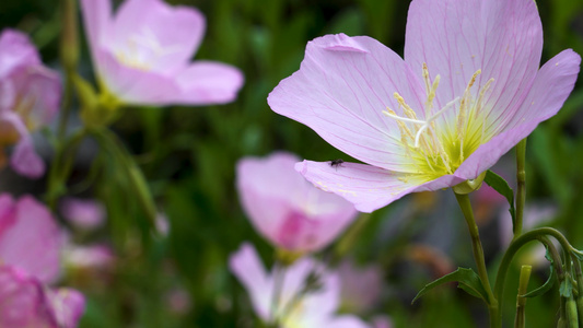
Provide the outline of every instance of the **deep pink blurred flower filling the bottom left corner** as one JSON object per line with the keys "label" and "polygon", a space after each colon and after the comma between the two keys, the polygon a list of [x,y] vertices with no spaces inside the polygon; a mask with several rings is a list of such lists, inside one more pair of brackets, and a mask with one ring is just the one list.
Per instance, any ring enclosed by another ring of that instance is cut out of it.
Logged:
{"label": "deep pink blurred flower filling the bottom left corner", "polygon": [[83,295],[45,286],[58,278],[60,245],[59,227],[42,203],[0,195],[0,327],[77,327]]}

